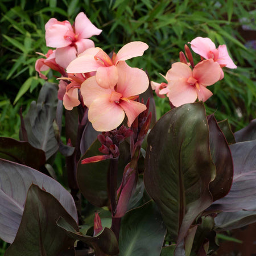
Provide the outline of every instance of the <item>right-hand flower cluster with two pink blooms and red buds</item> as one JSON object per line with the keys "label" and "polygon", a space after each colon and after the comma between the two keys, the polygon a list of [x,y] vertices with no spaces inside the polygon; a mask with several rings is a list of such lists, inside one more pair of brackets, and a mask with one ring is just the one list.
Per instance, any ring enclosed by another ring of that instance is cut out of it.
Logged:
{"label": "right-hand flower cluster with two pink blooms and red buds", "polygon": [[166,94],[174,106],[195,102],[197,98],[199,101],[208,100],[212,96],[212,92],[207,89],[207,86],[223,79],[222,68],[237,68],[229,57],[225,45],[216,49],[212,40],[201,37],[193,39],[190,44],[193,51],[205,60],[202,59],[194,66],[192,54],[189,48],[185,46],[189,63],[187,63],[184,53],[181,53],[180,62],[172,64],[166,76],[163,76],[167,83],[151,82],[152,89],[155,90],[156,94],[159,97],[164,97]]}

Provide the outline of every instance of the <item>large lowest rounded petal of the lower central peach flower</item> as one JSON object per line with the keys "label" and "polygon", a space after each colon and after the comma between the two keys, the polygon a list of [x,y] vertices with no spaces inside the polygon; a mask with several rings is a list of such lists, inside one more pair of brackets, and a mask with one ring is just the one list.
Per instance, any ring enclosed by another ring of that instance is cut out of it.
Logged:
{"label": "large lowest rounded petal of the lower central peach flower", "polygon": [[125,112],[115,102],[110,102],[110,95],[98,97],[90,104],[88,119],[96,131],[111,131],[121,125]]}

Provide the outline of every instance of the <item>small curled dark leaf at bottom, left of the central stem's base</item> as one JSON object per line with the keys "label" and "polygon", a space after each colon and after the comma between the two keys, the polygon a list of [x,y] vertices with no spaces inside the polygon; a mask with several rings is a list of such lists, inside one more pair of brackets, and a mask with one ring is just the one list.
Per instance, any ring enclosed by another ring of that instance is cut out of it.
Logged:
{"label": "small curled dark leaf at bottom, left of the central stem's base", "polygon": [[97,256],[105,256],[108,255],[116,255],[118,254],[118,243],[117,238],[112,230],[109,228],[104,228],[100,233],[97,234],[95,237],[84,236],[80,232],[77,232],[64,218],[60,218],[57,221],[57,225],[60,226],[65,233],[75,239],[81,240],[82,242],[87,243],[88,245],[92,246],[95,250]]}

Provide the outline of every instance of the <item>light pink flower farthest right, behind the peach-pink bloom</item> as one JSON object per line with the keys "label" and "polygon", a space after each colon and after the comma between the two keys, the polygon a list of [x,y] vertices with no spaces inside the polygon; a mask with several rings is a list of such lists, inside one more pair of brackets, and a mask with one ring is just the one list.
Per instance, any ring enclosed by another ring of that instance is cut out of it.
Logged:
{"label": "light pink flower farthest right, behind the peach-pink bloom", "polygon": [[217,61],[221,67],[237,68],[233,60],[229,57],[225,44],[216,49],[212,40],[209,38],[201,38],[200,36],[193,39],[190,44],[193,51],[204,57],[204,59],[213,59]]}

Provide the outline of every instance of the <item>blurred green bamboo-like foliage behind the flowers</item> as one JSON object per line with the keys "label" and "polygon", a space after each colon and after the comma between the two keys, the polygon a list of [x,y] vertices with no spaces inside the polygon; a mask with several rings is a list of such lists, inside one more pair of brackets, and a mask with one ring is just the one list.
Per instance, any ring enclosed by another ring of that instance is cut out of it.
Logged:
{"label": "blurred green bamboo-like foliage behind the flowers", "polygon": [[[18,138],[19,109],[22,106],[26,112],[44,83],[34,68],[36,52],[48,51],[44,24],[52,17],[73,22],[80,11],[103,30],[93,40],[107,52],[133,40],[146,42],[150,48],[144,56],[129,64],[147,70],[158,82],[163,81],[159,73],[165,74],[179,61],[179,52],[193,38],[207,36],[216,46],[226,44],[238,68],[226,69],[224,80],[210,88],[214,96],[207,101],[208,112],[216,110],[218,119],[228,118],[234,130],[256,117],[256,54],[246,46],[242,31],[242,24],[256,27],[251,23],[254,1],[3,0],[0,8],[2,136]],[[55,81],[51,71],[48,77]],[[156,104],[158,117],[170,109],[167,99],[156,98]]]}

